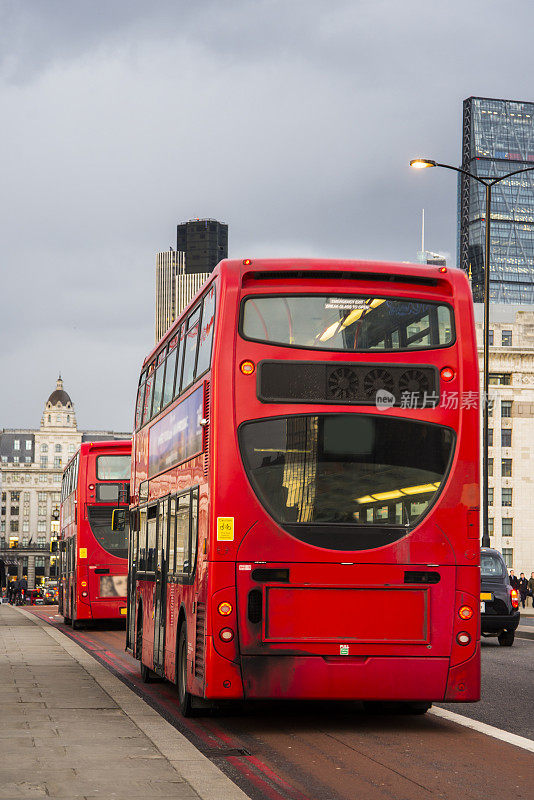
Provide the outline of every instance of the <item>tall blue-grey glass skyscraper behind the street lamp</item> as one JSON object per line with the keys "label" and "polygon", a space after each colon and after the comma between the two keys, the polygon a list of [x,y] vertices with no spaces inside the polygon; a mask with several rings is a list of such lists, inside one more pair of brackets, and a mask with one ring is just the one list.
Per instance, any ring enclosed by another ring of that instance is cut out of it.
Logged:
{"label": "tall blue-grey glass skyscraper behind the street lamp", "polygon": [[[534,167],[534,103],[469,97],[463,107],[462,168],[481,178]],[[458,265],[484,300],[485,190],[459,178]],[[490,300],[534,303],[534,170],[492,188]]]}

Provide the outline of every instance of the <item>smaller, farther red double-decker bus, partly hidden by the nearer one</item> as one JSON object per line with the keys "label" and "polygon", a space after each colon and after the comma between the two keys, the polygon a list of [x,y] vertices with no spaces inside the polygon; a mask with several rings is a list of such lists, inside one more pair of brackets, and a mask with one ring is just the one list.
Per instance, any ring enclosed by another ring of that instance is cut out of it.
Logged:
{"label": "smaller, farther red double-decker bus, partly hidden by the nearer one", "polygon": [[59,613],[73,628],[125,619],[128,530],[112,531],[111,518],[128,508],[131,450],[130,440],[84,442],[63,473]]}

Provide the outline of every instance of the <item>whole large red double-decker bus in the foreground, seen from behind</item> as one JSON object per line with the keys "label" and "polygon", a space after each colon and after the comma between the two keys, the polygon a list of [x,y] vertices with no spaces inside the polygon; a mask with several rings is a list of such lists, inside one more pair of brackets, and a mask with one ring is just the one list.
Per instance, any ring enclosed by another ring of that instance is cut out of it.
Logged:
{"label": "whole large red double-decker bus in the foreground, seen from behind", "polygon": [[195,697],[479,698],[478,368],[456,269],[222,261],[145,360],[127,647]]}

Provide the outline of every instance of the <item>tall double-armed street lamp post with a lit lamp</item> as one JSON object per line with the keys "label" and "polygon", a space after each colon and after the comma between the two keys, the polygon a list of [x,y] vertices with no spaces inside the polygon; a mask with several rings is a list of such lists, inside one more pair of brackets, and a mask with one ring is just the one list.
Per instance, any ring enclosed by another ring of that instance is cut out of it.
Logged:
{"label": "tall double-armed street lamp post with a lit lamp", "polygon": [[460,167],[452,167],[450,164],[439,164],[437,161],[432,161],[430,158],[415,158],[410,161],[410,166],[415,169],[426,169],[427,167],[443,167],[444,169],[452,169],[454,172],[461,172],[462,175],[467,175],[468,178],[473,178],[484,186],[486,190],[486,236],[485,236],[485,256],[484,256],[484,380],[483,380],[483,406],[484,417],[482,424],[482,547],[490,546],[489,526],[488,526],[488,485],[489,485],[489,457],[488,457],[488,428],[489,428],[489,279],[490,279],[490,226],[491,226],[491,190],[496,183],[510,178],[512,175],[518,175],[521,172],[530,172],[534,169],[532,167],[525,167],[525,169],[516,169],[513,172],[508,172],[506,175],[501,175],[500,178],[480,178],[478,175],[473,175]]}

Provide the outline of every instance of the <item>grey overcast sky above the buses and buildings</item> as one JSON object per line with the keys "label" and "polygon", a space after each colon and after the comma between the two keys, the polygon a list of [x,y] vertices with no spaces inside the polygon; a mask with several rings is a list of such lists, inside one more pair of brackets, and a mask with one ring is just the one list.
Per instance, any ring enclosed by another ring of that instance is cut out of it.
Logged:
{"label": "grey overcast sky above the buses and buildings", "polygon": [[130,430],[155,253],[456,257],[462,100],[534,100],[534,3],[0,0],[0,428],[61,371],[80,428]]}

